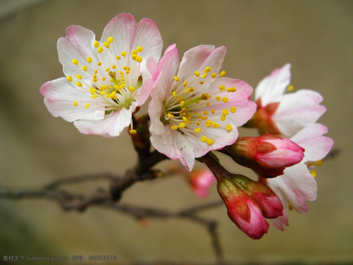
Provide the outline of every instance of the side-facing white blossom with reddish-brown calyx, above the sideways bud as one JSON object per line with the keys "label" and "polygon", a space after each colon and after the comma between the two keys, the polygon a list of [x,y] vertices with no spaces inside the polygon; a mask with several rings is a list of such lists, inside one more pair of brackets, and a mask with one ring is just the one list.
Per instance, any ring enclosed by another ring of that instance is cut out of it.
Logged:
{"label": "side-facing white blossom with reddish-brown calyx, above the sideways bud", "polygon": [[257,111],[246,124],[261,134],[280,134],[290,138],[307,124],[315,123],[326,111],[321,95],[312,90],[285,93],[291,81],[291,65],[285,64],[261,80],[255,89]]}

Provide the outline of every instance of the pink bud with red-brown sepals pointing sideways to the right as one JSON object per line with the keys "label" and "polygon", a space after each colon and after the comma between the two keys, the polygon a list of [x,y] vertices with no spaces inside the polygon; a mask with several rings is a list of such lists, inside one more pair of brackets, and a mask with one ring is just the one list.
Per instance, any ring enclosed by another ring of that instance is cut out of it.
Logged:
{"label": "pink bud with red-brown sepals pointing sideways to the right", "polygon": [[220,150],[237,162],[249,167],[263,178],[283,174],[286,167],[298,164],[304,157],[304,148],[291,140],[274,134],[258,137],[239,137],[231,146]]}

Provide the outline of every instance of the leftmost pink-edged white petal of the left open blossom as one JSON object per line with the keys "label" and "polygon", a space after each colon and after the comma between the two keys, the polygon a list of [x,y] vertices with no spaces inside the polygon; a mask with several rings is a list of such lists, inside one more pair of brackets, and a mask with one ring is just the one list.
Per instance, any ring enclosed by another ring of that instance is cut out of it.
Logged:
{"label": "leftmost pink-edged white petal of the left open blossom", "polygon": [[[48,81],[41,86],[44,103],[54,117],[62,117],[65,121],[73,122],[78,119],[99,120],[104,118],[104,111],[84,108],[87,103],[96,104],[90,93],[84,93],[73,87],[66,78],[62,77]],[[79,106],[74,106],[77,101]]]}

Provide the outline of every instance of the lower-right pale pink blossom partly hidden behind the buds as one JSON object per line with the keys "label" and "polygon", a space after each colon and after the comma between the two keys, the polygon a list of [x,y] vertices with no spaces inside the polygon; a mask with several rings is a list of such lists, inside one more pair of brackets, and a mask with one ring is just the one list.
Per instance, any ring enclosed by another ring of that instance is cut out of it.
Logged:
{"label": "lower-right pale pink blossom partly hidden behind the buds", "polygon": [[320,165],[333,146],[333,140],[323,136],[328,129],[326,126],[315,123],[307,125],[297,132],[291,140],[305,148],[303,160],[294,166],[287,167],[284,174],[272,178],[262,179],[280,197],[285,209],[283,216],[274,220],[277,228],[283,230],[283,224],[288,226],[287,207],[293,207],[297,212],[303,214],[309,209],[305,201],[315,201],[317,197],[317,184],[314,179],[315,170],[313,165]]}

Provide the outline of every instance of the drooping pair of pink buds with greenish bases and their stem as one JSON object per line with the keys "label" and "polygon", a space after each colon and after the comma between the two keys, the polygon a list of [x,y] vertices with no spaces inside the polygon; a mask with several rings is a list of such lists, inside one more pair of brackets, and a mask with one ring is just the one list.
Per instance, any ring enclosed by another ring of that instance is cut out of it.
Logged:
{"label": "drooping pair of pink buds with greenish bases and their stem", "polygon": [[262,238],[269,227],[265,217],[283,215],[280,198],[260,181],[228,172],[211,155],[205,155],[203,161],[217,179],[217,191],[229,218],[250,238]]}

